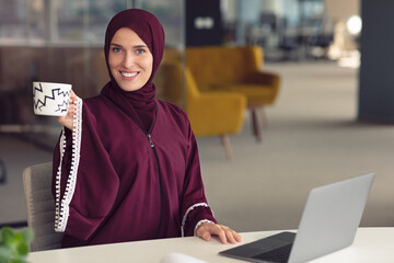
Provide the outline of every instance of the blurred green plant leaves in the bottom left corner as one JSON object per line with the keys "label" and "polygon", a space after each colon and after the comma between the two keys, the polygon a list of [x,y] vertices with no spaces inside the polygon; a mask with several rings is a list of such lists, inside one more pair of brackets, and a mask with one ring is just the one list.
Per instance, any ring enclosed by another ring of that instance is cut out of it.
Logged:
{"label": "blurred green plant leaves in the bottom left corner", "polygon": [[0,232],[0,263],[25,263],[34,233],[30,228],[14,231],[3,227]]}

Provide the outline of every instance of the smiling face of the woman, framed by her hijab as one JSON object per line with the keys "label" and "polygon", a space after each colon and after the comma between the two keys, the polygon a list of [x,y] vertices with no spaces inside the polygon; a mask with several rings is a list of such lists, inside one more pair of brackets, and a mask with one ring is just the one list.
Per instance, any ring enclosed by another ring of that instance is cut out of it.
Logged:
{"label": "smiling face of the woman, framed by her hijab", "polygon": [[108,65],[120,89],[136,91],[151,77],[153,56],[136,32],[121,27],[112,38]]}

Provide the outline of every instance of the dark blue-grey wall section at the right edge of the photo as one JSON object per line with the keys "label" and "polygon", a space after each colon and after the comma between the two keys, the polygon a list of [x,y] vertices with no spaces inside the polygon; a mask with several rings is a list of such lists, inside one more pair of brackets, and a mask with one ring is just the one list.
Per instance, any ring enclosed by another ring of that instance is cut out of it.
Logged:
{"label": "dark blue-grey wall section at the right edge of the photo", "polygon": [[394,123],[394,1],[362,0],[359,119]]}

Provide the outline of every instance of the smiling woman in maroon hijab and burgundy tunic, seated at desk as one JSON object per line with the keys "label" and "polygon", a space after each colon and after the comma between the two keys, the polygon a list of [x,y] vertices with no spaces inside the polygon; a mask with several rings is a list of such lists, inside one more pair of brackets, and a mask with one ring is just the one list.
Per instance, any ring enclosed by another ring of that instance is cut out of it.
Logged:
{"label": "smiling woman in maroon hijab and burgundy tunic, seated at desk", "polygon": [[186,114],[155,99],[163,50],[154,15],[116,14],[104,46],[111,81],[95,98],[72,93],[67,116],[58,117],[53,188],[62,247],[193,235],[241,241],[207,204]]}

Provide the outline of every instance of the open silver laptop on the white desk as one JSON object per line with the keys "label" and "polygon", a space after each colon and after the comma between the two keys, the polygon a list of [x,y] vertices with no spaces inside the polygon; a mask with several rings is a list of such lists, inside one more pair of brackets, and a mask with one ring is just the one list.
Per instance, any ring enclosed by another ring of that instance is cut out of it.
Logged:
{"label": "open silver laptop on the white desk", "polygon": [[350,245],[374,173],[313,188],[297,235],[280,232],[219,254],[251,262],[305,262]]}

